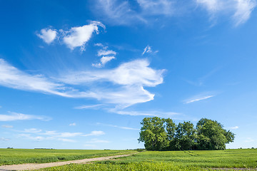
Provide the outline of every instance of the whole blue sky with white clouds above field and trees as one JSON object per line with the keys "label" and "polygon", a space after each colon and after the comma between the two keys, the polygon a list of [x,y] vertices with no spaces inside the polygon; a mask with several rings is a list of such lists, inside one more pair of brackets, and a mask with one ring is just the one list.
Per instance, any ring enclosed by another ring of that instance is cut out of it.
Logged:
{"label": "whole blue sky with white clouds above field and trees", "polygon": [[143,147],[152,116],[257,147],[256,3],[1,1],[0,147]]}

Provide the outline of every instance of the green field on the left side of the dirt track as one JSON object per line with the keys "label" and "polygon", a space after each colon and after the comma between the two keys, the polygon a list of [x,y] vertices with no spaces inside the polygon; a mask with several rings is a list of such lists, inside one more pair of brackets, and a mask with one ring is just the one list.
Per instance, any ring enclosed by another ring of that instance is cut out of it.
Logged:
{"label": "green field on the left side of the dirt track", "polygon": [[36,149],[0,149],[0,165],[23,163],[59,162],[109,155],[129,154],[130,150],[36,150]]}

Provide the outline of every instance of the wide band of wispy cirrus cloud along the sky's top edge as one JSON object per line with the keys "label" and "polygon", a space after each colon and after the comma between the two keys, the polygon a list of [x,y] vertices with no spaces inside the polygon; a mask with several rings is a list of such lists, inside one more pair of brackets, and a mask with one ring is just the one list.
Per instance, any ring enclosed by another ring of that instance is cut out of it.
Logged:
{"label": "wide band of wispy cirrus cloud along the sky's top edge", "polygon": [[[196,13],[196,6],[206,9],[211,21],[217,16],[226,16],[232,19],[235,26],[245,23],[251,16],[251,11],[256,8],[256,0],[136,0],[136,1],[116,1],[97,0],[96,9],[103,11],[96,13],[101,19],[116,25],[131,25],[135,23],[149,24],[153,21],[153,16],[181,17],[183,14]],[[136,8],[135,8],[136,6]],[[156,20],[157,21],[157,20]]]}

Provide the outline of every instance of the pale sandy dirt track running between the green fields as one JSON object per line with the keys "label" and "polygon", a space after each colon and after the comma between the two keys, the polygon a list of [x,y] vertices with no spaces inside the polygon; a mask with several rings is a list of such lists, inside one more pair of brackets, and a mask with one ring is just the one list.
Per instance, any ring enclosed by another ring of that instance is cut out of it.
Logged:
{"label": "pale sandy dirt track running between the green fields", "polygon": [[[130,154],[130,155],[133,155],[133,154]],[[22,164],[22,165],[2,165],[2,166],[0,166],[0,171],[6,171],[6,170],[37,170],[37,169],[46,168],[46,167],[69,165],[71,163],[83,164],[83,163],[86,163],[86,162],[109,160],[109,159],[112,159],[112,158],[126,157],[126,156],[129,156],[129,155],[113,155],[113,156],[107,156],[107,157],[97,157],[97,158],[89,158],[89,159],[82,159],[82,160],[71,160],[71,161],[66,161],[66,162],[50,162],[50,163],[41,163],[41,164],[28,163],[28,164]]]}

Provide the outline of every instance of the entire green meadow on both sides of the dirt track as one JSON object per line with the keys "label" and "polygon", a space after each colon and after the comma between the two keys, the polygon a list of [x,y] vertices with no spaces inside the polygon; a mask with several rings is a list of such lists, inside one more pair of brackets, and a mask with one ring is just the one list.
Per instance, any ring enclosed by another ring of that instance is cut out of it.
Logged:
{"label": "entire green meadow on both sides of the dirt track", "polygon": [[[0,165],[59,162],[110,155],[132,154],[135,150],[25,150],[0,149]],[[213,168],[257,167],[257,149],[143,151],[129,157],[49,167],[42,170],[213,170]],[[242,169],[243,170],[243,169]]]}

